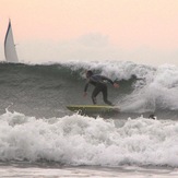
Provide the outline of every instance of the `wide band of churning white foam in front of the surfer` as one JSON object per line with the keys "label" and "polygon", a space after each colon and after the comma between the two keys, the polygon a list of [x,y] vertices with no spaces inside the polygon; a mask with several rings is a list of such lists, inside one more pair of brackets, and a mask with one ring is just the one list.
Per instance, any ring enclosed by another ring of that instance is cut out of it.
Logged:
{"label": "wide band of churning white foam in front of the surfer", "polygon": [[140,117],[114,121],[80,115],[35,119],[8,111],[0,116],[0,159],[176,167],[177,135],[178,123],[171,120]]}

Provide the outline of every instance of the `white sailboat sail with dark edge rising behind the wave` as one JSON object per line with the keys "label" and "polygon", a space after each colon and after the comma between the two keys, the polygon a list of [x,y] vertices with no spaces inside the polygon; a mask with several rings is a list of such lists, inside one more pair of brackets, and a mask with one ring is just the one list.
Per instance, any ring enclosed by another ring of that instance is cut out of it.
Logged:
{"label": "white sailboat sail with dark edge rising behind the wave", "polygon": [[4,38],[4,55],[7,62],[19,62],[11,27],[11,20],[9,20],[8,31]]}

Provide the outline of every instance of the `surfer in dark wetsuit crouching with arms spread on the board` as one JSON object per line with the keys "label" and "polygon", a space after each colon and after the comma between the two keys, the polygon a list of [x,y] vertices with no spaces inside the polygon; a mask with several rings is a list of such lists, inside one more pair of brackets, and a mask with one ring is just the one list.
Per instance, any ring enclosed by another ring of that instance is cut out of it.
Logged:
{"label": "surfer in dark wetsuit crouching with arms spread on the board", "polygon": [[86,79],[87,79],[87,82],[85,84],[85,87],[84,87],[84,96],[87,95],[87,87],[88,87],[88,84],[92,84],[95,86],[93,93],[92,93],[92,100],[93,100],[93,104],[96,105],[96,96],[102,92],[103,93],[103,99],[104,102],[107,104],[107,105],[111,105],[111,102],[109,102],[107,99],[107,85],[106,85],[106,81],[108,81],[111,85],[114,85],[114,87],[119,87],[119,85],[115,82],[112,82],[110,79],[104,76],[104,75],[99,75],[99,74],[94,74],[91,70],[88,70],[86,72]]}

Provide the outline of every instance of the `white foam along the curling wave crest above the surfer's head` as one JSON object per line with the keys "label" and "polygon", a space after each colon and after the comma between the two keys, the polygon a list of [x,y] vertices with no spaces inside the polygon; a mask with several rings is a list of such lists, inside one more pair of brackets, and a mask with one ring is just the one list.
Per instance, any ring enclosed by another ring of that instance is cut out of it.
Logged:
{"label": "white foam along the curling wave crest above the surfer's head", "polygon": [[133,74],[142,78],[155,70],[155,68],[135,64],[131,61],[70,61],[62,64],[70,67],[73,71],[79,69],[83,69],[83,72],[85,70],[98,70],[100,74],[112,80],[127,80]]}

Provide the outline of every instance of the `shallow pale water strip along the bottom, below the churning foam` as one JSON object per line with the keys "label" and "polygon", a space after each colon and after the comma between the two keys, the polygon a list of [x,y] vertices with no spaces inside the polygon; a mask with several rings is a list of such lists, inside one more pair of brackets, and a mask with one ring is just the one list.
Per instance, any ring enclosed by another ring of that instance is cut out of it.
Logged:
{"label": "shallow pale water strip along the bottom, below the churning foam", "polygon": [[9,178],[66,178],[66,177],[121,177],[121,178],[177,178],[178,168],[170,167],[100,167],[61,166],[50,164],[10,163],[0,164],[1,177]]}

